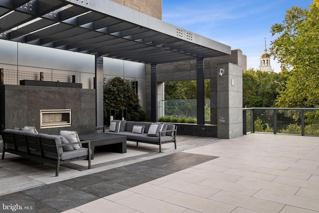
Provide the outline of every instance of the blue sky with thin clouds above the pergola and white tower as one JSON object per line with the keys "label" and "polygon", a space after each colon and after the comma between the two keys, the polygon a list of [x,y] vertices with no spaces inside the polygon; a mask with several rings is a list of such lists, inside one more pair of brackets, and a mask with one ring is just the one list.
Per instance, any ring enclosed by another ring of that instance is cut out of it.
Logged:
{"label": "blue sky with thin clouds above the pergola and white tower", "polygon": [[[241,49],[247,55],[247,68],[259,68],[267,49],[272,24],[282,23],[292,6],[308,8],[313,0],[162,0],[162,20],[191,32]],[[274,59],[271,66],[280,72]]]}

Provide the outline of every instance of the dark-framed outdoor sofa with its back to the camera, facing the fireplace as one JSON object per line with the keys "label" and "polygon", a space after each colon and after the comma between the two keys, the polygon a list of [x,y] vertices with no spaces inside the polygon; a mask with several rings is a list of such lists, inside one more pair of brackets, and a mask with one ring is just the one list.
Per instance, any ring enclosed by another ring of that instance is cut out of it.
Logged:
{"label": "dark-framed outdoor sofa with its back to the camera, facing the fireplace", "polygon": [[[60,164],[80,159],[87,159],[88,168],[91,169],[90,141],[68,142],[60,135],[37,134],[13,129],[5,129],[1,134],[4,145],[2,160],[4,153],[8,152],[53,164],[56,165],[55,176],[59,175]],[[80,144],[84,143],[88,144],[88,148],[82,148]],[[73,149],[72,146],[81,148]]]}

